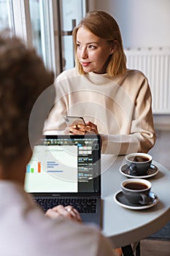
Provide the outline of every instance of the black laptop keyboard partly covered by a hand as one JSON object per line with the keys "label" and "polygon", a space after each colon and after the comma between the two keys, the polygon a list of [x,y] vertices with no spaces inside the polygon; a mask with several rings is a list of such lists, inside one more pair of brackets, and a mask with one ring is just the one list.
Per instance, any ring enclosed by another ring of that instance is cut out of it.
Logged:
{"label": "black laptop keyboard partly covered by a hand", "polygon": [[80,212],[83,213],[96,213],[96,198],[34,198],[36,204],[41,206],[44,211],[49,208],[53,208],[58,205],[62,206],[73,206]]}

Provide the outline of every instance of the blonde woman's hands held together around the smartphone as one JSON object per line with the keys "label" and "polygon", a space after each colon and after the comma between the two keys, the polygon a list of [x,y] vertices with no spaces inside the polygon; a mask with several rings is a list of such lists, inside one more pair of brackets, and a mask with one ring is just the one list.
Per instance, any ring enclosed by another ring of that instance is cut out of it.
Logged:
{"label": "blonde woman's hands held together around the smartphone", "polygon": [[85,135],[85,134],[96,134],[98,135],[98,129],[96,124],[88,121],[86,125],[84,124],[73,124],[70,127],[70,134],[73,135]]}

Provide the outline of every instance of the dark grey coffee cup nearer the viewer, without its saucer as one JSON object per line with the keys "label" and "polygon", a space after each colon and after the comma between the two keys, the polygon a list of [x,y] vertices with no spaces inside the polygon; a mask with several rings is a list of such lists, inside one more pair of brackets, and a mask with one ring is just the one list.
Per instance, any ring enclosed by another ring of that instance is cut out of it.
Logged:
{"label": "dark grey coffee cup nearer the viewer, without its saucer", "polygon": [[151,187],[150,181],[143,178],[130,178],[121,183],[123,195],[133,205],[147,205],[152,202]]}

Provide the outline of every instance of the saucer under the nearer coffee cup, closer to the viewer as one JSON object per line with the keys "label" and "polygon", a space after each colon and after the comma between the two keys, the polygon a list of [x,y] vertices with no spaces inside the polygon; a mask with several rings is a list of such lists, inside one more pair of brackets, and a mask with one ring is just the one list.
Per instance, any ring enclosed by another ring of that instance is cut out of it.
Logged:
{"label": "saucer under the nearer coffee cup, closer to the viewer", "polygon": [[152,201],[150,204],[143,206],[139,203],[139,204],[134,205],[132,203],[129,203],[128,200],[126,200],[125,196],[123,195],[122,190],[120,190],[115,194],[114,200],[118,205],[120,205],[124,208],[128,208],[131,210],[143,210],[143,209],[151,208],[158,203],[158,197],[157,197],[157,195],[155,195],[155,193],[150,192],[150,197],[152,198]]}

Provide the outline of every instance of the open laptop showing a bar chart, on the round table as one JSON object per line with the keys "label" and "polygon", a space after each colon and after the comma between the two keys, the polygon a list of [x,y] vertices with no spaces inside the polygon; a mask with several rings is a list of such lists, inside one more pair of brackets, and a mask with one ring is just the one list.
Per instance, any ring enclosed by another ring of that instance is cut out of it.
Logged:
{"label": "open laptop showing a bar chart, on the round table", "polygon": [[101,226],[99,135],[46,135],[26,167],[26,192],[45,211],[72,205],[83,222]]}

